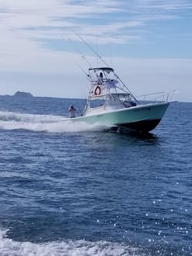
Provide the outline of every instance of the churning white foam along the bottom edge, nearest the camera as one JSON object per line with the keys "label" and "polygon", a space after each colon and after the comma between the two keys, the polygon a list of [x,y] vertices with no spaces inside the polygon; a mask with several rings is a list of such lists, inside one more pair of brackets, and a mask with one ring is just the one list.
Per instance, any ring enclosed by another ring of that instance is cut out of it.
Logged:
{"label": "churning white foam along the bottom edge, nearest the camera", "polygon": [[17,242],[6,237],[7,230],[0,230],[1,256],[139,256],[137,249],[106,241],[66,240],[34,244]]}

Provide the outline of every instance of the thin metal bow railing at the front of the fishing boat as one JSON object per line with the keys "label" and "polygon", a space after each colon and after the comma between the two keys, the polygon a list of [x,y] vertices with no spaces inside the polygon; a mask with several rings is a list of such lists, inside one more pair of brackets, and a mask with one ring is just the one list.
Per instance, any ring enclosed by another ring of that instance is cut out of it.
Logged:
{"label": "thin metal bow railing at the front of the fishing boat", "polygon": [[149,102],[167,102],[167,101],[172,101],[172,97],[175,94],[174,91],[161,91],[161,92],[156,92],[153,94],[143,94],[137,96],[138,101],[149,101]]}

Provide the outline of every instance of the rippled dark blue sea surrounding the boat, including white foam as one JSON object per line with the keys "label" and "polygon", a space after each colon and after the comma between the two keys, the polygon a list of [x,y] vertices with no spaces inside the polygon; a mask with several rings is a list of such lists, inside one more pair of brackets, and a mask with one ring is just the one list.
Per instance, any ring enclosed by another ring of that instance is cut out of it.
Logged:
{"label": "rippled dark blue sea surrounding the boat, including white foam", "polygon": [[65,121],[70,104],[0,97],[0,255],[192,255],[192,103],[148,134]]}

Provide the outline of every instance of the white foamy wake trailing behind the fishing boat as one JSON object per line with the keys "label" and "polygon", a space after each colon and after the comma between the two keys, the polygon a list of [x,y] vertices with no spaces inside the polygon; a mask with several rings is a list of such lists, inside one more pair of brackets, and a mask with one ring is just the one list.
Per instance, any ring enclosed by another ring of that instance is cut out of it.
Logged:
{"label": "white foamy wake trailing behind the fishing boat", "polygon": [[103,131],[105,126],[84,122],[73,123],[62,116],[34,115],[17,112],[0,111],[0,129],[3,130],[30,130],[34,132],[69,133]]}

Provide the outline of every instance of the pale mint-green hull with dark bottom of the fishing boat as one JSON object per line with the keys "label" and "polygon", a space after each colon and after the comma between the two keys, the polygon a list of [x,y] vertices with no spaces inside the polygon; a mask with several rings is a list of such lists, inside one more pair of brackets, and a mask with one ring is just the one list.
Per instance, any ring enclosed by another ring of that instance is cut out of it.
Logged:
{"label": "pale mint-green hull with dark bottom of the fishing boat", "polygon": [[165,114],[169,102],[137,105],[112,111],[80,116],[71,119],[73,122],[100,123],[106,126],[121,126],[141,132],[153,130]]}

